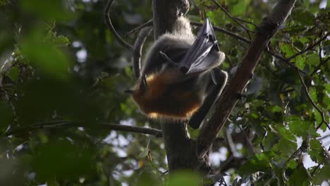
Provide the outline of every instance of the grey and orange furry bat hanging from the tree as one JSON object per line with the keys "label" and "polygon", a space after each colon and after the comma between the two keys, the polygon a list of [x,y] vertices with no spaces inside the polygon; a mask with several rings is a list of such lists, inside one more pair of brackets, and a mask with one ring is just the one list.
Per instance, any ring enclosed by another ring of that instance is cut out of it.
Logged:
{"label": "grey and orange furry bat hanging from the tree", "polygon": [[149,49],[138,83],[126,92],[150,118],[199,128],[226,85],[227,73],[218,68],[224,58],[208,19],[195,37],[189,20],[178,18],[173,32]]}

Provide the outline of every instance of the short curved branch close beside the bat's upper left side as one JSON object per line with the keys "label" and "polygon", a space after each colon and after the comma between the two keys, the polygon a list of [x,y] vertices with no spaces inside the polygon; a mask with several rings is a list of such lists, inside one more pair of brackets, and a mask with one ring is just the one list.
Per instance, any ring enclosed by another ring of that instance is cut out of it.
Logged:
{"label": "short curved branch close beside the bat's upper left side", "polygon": [[138,37],[135,40],[134,48],[133,48],[133,71],[135,80],[138,80],[140,77],[140,69],[141,69],[141,56],[142,56],[142,47],[145,44],[145,40],[148,35],[152,31],[152,27],[144,27],[140,30]]}

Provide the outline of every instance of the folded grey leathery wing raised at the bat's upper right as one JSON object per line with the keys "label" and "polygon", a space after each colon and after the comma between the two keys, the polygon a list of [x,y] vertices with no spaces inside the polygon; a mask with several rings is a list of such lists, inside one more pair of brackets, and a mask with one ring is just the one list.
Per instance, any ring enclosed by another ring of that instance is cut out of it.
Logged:
{"label": "folded grey leathery wing raised at the bat's upper right", "polygon": [[218,55],[210,53],[212,50],[220,51],[213,27],[207,19],[178,67],[184,74],[193,74],[219,66]]}

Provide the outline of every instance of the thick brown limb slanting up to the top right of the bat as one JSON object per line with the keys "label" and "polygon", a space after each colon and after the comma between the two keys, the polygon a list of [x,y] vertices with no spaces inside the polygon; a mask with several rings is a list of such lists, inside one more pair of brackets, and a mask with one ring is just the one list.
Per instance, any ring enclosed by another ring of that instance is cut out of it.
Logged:
{"label": "thick brown limb slanting up to the top right of the bat", "polygon": [[261,23],[259,32],[252,40],[241,65],[238,67],[235,76],[224,90],[221,99],[216,101],[215,113],[208,123],[205,123],[200,135],[197,137],[198,157],[202,158],[207,153],[212,142],[216,139],[219,130],[226,123],[231,110],[238,101],[238,95],[243,92],[248,80],[253,75],[257,63],[263,51],[269,44],[269,39],[273,37],[291,13],[295,0],[281,0],[274,7],[271,15]]}

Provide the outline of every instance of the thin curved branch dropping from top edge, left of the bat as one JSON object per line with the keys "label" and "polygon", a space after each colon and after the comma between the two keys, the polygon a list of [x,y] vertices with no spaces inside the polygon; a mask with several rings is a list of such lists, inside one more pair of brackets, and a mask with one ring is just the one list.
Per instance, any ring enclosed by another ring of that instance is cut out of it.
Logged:
{"label": "thin curved branch dropping from top edge, left of the bat", "polygon": [[108,3],[106,4],[106,8],[104,9],[104,22],[106,24],[106,27],[109,28],[109,30],[114,34],[114,37],[116,40],[119,42],[119,44],[123,45],[129,50],[133,50],[133,46],[125,42],[120,35],[118,35],[118,32],[114,28],[114,25],[111,23],[111,18],[110,18],[110,10],[112,7],[112,4],[114,4],[114,0],[109,0]]}

